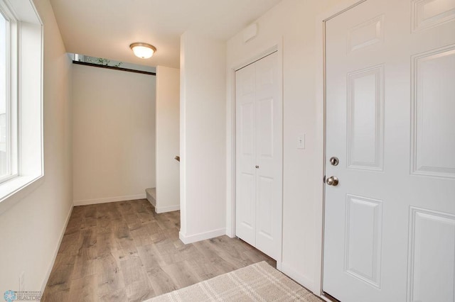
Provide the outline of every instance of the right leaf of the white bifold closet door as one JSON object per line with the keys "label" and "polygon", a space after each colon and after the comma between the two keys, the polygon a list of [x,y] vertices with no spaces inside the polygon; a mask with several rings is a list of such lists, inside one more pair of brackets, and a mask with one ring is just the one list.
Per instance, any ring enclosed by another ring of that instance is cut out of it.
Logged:
{"label": "right leaf of the white bifold closet door", "polygon": [[256,247],[277,259],[282,237],[282,97],[275,52],[256,68]]}

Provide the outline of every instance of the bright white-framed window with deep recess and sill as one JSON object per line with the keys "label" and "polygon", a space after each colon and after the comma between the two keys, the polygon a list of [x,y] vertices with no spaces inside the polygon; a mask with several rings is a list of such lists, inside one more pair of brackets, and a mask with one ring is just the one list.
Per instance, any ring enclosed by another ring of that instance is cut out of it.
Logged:
{"label": "bright white-framed window with deep recess and sill", "polygon": [[0,0],[0,213],[43,178],[42,43],[33,1]]}

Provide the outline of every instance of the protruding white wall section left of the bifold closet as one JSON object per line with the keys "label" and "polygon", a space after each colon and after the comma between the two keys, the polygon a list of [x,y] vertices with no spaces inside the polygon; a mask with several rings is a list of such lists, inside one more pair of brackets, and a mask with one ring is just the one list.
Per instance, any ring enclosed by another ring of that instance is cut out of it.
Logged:
{"label": "protruding white wall section left of the bifold closet", "polygon": [[183,242],[225,234],[225,43],[181,36],[181,230]]}

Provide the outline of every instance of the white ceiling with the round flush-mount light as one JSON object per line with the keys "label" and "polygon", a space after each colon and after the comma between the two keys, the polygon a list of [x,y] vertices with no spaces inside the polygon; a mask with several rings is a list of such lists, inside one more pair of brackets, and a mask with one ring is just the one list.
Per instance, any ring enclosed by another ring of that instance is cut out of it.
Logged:
{"label": "white ceiling with the round flush-mount light", "polygon": [[[227,40],[281,0],[50,0],[68,52],[140,65],[179,67],[180,35]],[[260,28],[259,28],[260,30]],[[157,48],[148,60],[129,44]]]}

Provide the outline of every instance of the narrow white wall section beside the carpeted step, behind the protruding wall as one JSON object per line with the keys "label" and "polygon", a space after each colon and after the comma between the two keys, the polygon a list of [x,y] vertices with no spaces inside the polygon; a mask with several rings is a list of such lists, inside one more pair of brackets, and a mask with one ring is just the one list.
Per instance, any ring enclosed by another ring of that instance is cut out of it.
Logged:
{"label": "narrow white wall section beside the carpeted step, behind the protruding wall", "polygon": [[156,67],[156,213],[180,208],[180,69]]}

